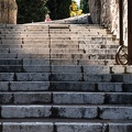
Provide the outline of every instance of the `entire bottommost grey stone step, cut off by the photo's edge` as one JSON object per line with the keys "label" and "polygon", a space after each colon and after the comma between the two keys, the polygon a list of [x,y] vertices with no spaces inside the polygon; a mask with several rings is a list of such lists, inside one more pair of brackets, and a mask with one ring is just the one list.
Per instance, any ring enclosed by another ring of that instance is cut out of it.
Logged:
{"label": "entire bottommost grey stone step, cut off by the photo's edge", "polygon": [[[54,119],[53,119],[54,121]],[[105,123],[101,121],[23,121],[23,122],[3,122],[1,123],[2,131],[1,132],[131,132],[132,123],[125,121],[106,121]]]}

